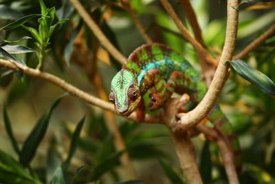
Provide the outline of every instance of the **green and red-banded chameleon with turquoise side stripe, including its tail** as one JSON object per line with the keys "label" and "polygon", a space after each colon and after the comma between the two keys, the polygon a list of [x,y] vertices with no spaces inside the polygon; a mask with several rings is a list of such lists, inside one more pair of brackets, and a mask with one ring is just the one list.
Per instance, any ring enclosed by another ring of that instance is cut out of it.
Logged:
{"label": "green and red-banded chameleon with turquoise side stripe, including its tail", "polygon": [[[199,73],[181,54],[161,43],[142,45],[130,54],[122,70],[111,81],[109,101],[122,116],[129,116],[137,109],[137,121],[142,121],[145,110],[142,96],[152,88],[148,103],[150,111],[162,108],[173,92],[187,93],[190,100],[197,104],[208,89]],[[234,163],[239,167],[239,141],[218,104],[208,113],[207,119],[230,145],[235,157]]]}

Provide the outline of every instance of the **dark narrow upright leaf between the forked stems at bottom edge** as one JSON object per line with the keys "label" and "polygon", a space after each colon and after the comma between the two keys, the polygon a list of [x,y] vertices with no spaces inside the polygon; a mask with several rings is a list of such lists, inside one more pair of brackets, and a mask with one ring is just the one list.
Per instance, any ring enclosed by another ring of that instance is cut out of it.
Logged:
{"label": "dark narrow upright leaf between the forked stems at bottom edge", "polygon": [[212,162],[209,150],[210,141],[206,140],[201,152],[201,161],[199,163],[199,170],[203,183],[211,183]]}

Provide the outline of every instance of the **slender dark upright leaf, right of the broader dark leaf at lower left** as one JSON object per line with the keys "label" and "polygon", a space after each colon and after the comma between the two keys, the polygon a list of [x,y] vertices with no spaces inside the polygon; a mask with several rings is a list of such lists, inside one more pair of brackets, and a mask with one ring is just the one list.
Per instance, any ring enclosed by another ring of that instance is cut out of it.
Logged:
{"label": "slender dark upright leaf, right of the broader dark leaf at lower left", "polygon": [[74,153],[76,152],[76,147],[78,145],[78,140],[79,140],[81,129],[84,125],[84,121],[85,121],[85,116],[83,117],[83,119],[79,121],[78,125],[76,126],[76,130],[74,130],[74,133],[72,134],[72,141],[69,148],[69,154],[66,161],[63,164],[64,170],[67,170],[67,168],[69,167],[69,164],[71,163],[71,159],[74,156]]}

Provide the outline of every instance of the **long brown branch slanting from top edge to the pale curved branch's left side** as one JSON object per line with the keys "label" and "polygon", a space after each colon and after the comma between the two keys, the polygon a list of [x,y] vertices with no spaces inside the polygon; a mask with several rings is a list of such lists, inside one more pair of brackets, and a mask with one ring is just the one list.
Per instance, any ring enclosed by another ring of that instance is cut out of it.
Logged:
{"label": "long brown branch slanting from top edge to the pale curved branch's left side", "polygon": [[212,58],[212,56],[208,54],[208,52],[206,52],[203,46],[196,39],[194,39],[194,37],[191,36],[190,32],[186,29],[184,24],[179,20],[179,17],[177,17],[177,14],[173,10],[168,0],[160,0],[160,1],[162,2],[162,5],[166,9],[170,17],[173,19],[173,21],[177,25],[177,28],[179,28],[179,30],[181,31],[181,34],[189,43],[191,43],[193,48],[196,50],[203,70],[207,71],[207,70],[210,70],[210,68],[217,66],[217,61],[214,58]]}

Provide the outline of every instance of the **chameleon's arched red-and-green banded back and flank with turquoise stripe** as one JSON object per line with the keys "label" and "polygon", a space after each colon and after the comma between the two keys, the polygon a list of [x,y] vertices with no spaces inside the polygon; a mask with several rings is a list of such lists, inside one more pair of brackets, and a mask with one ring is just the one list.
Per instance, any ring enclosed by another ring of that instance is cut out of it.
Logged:
{"label": "chameleon's arched red-and-green banded back and flank with turquoise stripe", "polygon": [[166,81],[174,71],[186,74],[194,82],[199,81],[199,74],[181,54],[159,43],[142,45],[134,50],[123,68],[133,72],[139,84],[152,68],[157,68]]}

